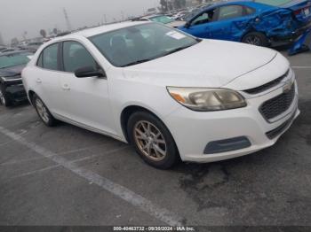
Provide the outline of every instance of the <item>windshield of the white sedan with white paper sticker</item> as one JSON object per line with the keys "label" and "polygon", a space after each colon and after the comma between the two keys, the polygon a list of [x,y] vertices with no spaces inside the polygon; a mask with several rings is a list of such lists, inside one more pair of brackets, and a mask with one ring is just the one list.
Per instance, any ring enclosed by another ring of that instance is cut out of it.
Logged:
{"label": "windshield of the white sedan with white paper sticker", "polygon": [[125,27],[89,38],[114,66],[132,66],[198,43],[194,37],[157,23]]}

